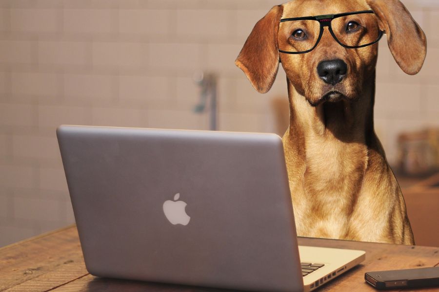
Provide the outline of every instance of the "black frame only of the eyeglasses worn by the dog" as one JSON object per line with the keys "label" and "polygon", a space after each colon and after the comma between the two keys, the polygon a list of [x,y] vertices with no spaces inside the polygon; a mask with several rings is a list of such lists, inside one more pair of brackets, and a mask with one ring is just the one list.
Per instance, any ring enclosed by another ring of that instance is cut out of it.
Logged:
{"label": "black frame only of the eyeglasses worn by the dog", "polygon": [[305,54],[305,53],[311,52],[319,44],[320,39],[323,36],[323,31],[324,31],[324,27],[325,26],[328,27],[329,33],[332,35],[332,37],[334,37],[334,39],[339,43],[339,45],[342,46],[342,47],[345,47],[347,49],[359,49],[359,48],[364,48],[364,47],[376,44],[377,42],[379,42],[381,37],[386,33],[385,31],[379,30],[378,39],[376,41],[374,41],[374,42],[371,42],[370,44],[365,44],[365,45],[361,45],[361,46],[347,46],[345,44],[342,44],[339,41],[339,39],[334,34],[334,31],[332,30],[331,22],[332,22],[333,19],[339,18],[339,17],[343,17],[343,16],[348,16],[348,15],[363,14],[363,13],[374,13],[374,12],[372,10],[363,10],[363,11],[346,12],[346,13],[339,13],[339,14],[326,14],[326,15],[306,16],[306,17],[296,17],[296,18],[282,18],[282,19],[280,19],[280,22],[293,21],[293,20],[316,20],[316,21],[319,21],[319,23],[320,23],[320,34],[319,34],[319,37],[317,38],[317,41],[316,41],[316,44],[314,45],[314,47],[312,49],[308,50],[308,51],[303,51],[303,52],[287,52],[287,51],[279,50],[279,52],[280,53],[284,53],[284,54],[292,54],[292,55],[295,55],[295,54]]}

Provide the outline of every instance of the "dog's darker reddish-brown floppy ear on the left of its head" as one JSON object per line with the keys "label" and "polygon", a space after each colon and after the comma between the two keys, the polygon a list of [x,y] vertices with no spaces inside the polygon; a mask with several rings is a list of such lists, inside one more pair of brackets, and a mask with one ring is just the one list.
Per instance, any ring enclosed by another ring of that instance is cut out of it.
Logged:
{"label": "dog's darker reddish-brown floppy ear on the left of its head", "polygon": [[279,69],[278,31],[283,7],[274,6],[256,23],[235,64],[260,93],[270,90]]}

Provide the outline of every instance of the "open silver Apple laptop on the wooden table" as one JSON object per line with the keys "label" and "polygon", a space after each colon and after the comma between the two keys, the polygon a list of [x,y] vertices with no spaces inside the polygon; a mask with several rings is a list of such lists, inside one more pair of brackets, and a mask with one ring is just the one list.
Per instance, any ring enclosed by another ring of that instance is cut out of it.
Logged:
{"label": "open silver Apple laptop on the wooden table", "polygon": [[278,135],[85,126],[57,135],[90,274],[295,292],[365,258],[298,246]]}

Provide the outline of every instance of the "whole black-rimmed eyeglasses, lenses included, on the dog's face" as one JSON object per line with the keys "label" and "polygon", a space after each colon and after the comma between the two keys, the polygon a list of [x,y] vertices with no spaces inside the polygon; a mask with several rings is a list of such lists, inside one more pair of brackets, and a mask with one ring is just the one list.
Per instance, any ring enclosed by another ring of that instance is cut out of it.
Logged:
{"label": "whole black-rimmed eyeglasses, lenses included, on the dog's face", "polygon": [[332,37],[343,47],[358,49],[377,43],[385,31],[379,29],[372,10],[280,19],[280,53],[304,54],[314,50],[327,26]]}

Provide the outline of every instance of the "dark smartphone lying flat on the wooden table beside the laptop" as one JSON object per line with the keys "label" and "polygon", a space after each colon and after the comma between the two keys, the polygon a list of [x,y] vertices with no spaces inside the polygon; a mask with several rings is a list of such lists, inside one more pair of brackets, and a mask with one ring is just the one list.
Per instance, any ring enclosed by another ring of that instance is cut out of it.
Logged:
{"label": "dark smartphone lying flat on the wooden table beside the laptop", "polygon": [[439,287],[439,267],[367,272],[364,279],[378,290]]}

